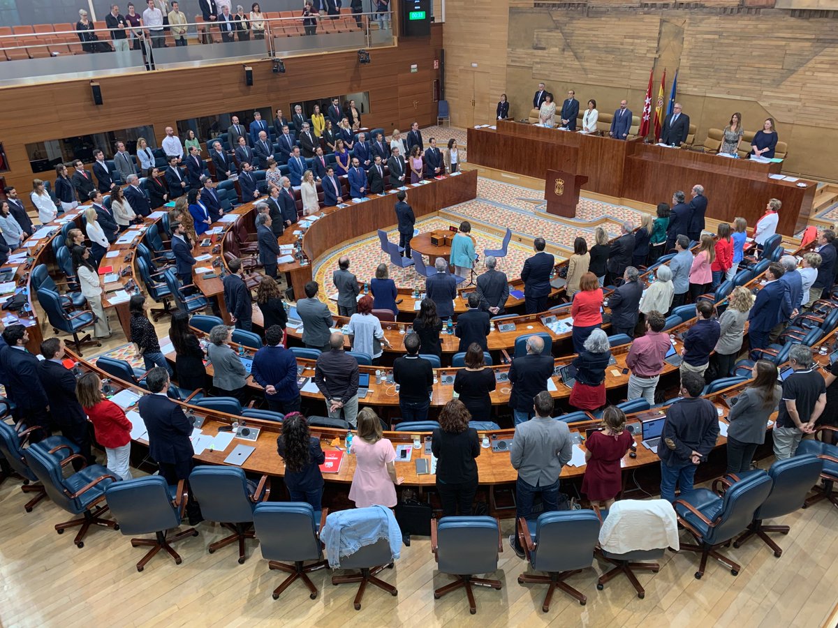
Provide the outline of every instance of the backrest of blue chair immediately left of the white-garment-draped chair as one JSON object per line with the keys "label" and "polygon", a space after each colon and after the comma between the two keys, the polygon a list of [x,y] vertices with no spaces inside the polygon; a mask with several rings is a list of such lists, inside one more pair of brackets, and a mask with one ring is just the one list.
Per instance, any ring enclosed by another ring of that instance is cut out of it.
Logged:
{"label": "backrest of blue chair immediately left of the white-garment-draped chair", "polygon": [[[573,542],[568,543],[571,538]],[[592,510],[545,512],[535,522],[530,563],[533,569],[551,573],[585,569],[591,566],[598,542],[599,518]]]}

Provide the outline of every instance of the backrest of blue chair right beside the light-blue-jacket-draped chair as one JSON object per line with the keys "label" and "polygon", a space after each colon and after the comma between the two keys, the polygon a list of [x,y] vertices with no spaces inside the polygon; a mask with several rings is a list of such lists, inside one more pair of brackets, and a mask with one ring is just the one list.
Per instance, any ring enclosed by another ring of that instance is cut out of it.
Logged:
{"label": "backrest of blue chair right beside the light-blue-jacket-draped chair", "polygon": [[442,517],[437,562],[443,574],[489,574],[498,569],[500,531],[494,517]]}

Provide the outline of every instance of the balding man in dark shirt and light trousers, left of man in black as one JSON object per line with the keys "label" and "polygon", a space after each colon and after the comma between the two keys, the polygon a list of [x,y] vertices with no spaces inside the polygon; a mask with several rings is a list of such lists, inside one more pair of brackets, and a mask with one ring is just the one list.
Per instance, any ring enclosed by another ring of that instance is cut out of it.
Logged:
{"label": "balding man in dark shirt and light trousers, left of man in black", "polygon": [[314,366],[314,383],[326,399],[328,415],[343,418],[354,429],[358,426],[358,361],[344,351],[341,332],[334,332],[328,343],[330,350],[321,353]]}

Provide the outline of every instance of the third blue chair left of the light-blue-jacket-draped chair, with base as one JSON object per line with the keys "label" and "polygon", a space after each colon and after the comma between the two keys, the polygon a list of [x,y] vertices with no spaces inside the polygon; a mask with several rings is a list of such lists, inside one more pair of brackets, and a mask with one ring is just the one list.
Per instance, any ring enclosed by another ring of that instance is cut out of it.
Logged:
{"label": "third blue chair left of the light-blue-jacket-draped chair, with base", "polygon": [[183,562],[171,543],[187,537],[197,537],[198,531],[195,528],[187,528],[172,538],[167,538],[166,532],[177,528],[184,517],[187,495],[183,480],[178,482],[178,486],[168,486],[161,476],[135,477],[133,480],[108,486],[105,497],[123,534],[153,533],[155,536],[153,539],[131,539],[134,548],[151,547],[137,563],[137,571],[145,569],[147,562],[161,549],[165,549],[172,556],[174,564]]}

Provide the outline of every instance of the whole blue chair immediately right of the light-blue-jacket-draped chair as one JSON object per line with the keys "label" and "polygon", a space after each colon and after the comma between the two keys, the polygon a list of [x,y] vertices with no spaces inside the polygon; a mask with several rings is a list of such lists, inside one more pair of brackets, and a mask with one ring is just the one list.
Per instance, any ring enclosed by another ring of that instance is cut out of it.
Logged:
{"label": "whole blue chair immediately right of the light-blue-jacket-draped chair", "polygon": [[433,592],[439,600],[456,589],[466,589],[468,612],[477,612],[472,584],[500,589],[500,580],[474,578],[498,569],[498,554],[504,551],[500,523],[494,517],[442,517],[431,521],[431,551],[443,574],[455,580]]}

